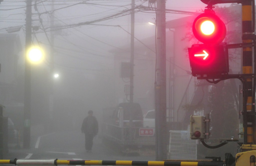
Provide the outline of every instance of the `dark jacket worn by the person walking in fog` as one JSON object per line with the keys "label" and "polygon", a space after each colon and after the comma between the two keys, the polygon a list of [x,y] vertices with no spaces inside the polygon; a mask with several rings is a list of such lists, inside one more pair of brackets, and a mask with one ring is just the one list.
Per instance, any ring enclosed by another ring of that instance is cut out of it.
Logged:
{"label": "dark jacket worn by the person walking in fog", "polygon": [[82,133],[93,134],[93,136],[98,134],[98,121],[94,116],[87,116],[83,120],[81,127]]}

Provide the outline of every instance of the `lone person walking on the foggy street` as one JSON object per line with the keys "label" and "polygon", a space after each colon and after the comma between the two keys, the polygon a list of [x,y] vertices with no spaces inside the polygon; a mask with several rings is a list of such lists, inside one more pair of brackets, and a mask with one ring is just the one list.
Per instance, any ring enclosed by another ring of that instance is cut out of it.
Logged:
{"label": "lone person walking on the foggy street", "polygon": [[92,151],[93,137],[98,134],[98,121],[92,116],[93,111],[88,111],[88,116],[84,118],[81,127],[82,133],[85,135],[85,149],[87,152]]}

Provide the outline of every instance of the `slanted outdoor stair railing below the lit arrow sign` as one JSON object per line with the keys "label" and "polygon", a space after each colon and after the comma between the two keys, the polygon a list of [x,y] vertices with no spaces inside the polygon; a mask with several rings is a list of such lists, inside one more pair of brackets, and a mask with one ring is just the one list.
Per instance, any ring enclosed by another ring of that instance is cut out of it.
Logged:
{"label": "slanted outdoor stair railing below the lit arrow sign", "polygon": [[184,105],[190,104],[190,101],[192,100],[194,93],[196,91],[196,77],[191,76],[188,86],[186,87],[185,93],[182,97],[182,100],[179,104],[179,107],[177,109],[177,121],[183,119],[185,115],[185,109],[183,108]]}

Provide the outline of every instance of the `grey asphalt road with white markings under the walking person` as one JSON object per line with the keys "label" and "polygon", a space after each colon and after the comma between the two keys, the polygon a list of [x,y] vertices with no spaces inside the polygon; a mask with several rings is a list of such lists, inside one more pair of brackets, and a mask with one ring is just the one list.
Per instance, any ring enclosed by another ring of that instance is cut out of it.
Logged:
{"label": "grey asphalt road with white markings under the walking person", "polygon": [[68,160],[133,160],[154,161],[153,150],[122,154],[116,146],[102,143],[100,136],[94,138],[92,152],[86,152],[84,134],[79,130],[53,132],[31,137],[30,149],[9,149],[5,159],[68,159]]}

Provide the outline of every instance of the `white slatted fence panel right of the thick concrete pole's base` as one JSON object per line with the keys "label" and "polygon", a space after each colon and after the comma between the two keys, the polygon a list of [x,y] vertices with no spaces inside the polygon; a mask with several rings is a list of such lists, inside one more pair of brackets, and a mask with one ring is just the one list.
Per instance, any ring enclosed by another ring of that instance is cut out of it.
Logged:
{"label": "white slatted fence panel right of the thick concrete pole's base", "polygon": [[196,140],[190,139],[190,133],[184,130],[170,130],[169,159],[196,160]]}

